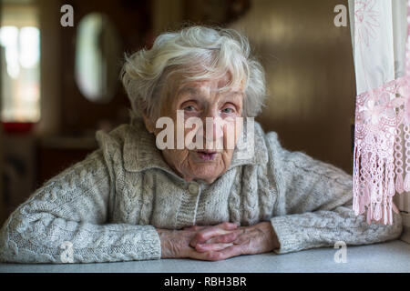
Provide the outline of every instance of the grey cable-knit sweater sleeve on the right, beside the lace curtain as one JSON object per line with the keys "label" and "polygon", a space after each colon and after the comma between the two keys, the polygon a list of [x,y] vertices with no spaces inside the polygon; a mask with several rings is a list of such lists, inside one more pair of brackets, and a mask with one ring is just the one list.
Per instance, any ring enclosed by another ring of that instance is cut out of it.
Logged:
{"label": "grey cable-knit sweater sleeve on the right, beside the lace curtain", "polygon": [[267,135],[267,145],[278,189],[271,218],[280,243],[275,253],[334,246],[338,241],[367,245],[401,235],[400,215],[394,214],[393,226],[369,226],[364,215],[354,215],[353,177],[342,169],[283,149],[275,133]]}

